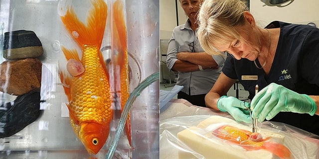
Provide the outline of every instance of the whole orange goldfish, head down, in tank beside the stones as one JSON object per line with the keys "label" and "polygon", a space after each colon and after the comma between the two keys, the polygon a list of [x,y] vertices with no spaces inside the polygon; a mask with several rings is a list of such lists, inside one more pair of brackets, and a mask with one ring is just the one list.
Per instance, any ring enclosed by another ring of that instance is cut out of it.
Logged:
{"label": "whole orange goldfish, head down, in tank beside the stones", "polygon": [[80,60],[76,50],[62,51],[67,60],[80,61],[85,71],[70,76],[60,71],[61,82],[69,103],[70,123],[88,153],[97,154],[104,146],[112,120],[109,75],[100,52],[107,18],[107,4],[103,0],[92,0],[87,25],[82,23],[69,7],[61,20],[82,49]]}

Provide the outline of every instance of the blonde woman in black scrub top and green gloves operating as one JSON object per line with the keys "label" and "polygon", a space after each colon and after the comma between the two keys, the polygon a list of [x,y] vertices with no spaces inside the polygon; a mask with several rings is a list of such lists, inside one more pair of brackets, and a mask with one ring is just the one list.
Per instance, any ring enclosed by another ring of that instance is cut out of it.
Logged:
{"label": "blonde woman in black scrub top and green gloves operating", "polygon": [[[211,54],[227,51],[222,73],[205,97],[207,107],[229,112],[237,121],[252,117],[283,122],[319,135],[319,29],[273,21],[265,28],[242,0],[205,0],[198,37]],[[226,96],[239,80],[251,103]],[[260,91],[255,94],[255,85]]]}

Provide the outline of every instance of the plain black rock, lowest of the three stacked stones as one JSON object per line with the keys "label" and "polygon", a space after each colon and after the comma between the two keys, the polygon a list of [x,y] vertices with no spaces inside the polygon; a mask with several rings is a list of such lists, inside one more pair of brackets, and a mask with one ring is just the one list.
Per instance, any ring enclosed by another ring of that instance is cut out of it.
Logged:
{"label": "plain black rock, lowest of the three stacked stones", "polygon": [[19,95],[14,101],[0,106],[0,138],[16,134],[34,122],[41,114],[40,91]]}

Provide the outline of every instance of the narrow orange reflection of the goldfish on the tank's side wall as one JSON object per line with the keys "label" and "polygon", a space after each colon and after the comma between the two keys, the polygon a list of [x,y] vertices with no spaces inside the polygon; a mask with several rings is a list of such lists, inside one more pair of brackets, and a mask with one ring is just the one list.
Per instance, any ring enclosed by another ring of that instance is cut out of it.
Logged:
{"label": "narrow orange reflection of the goldfish on the tank's side wall", "polygon": [[[125,103],[129,98],[129,74],[128,74],[128,51],[127,51],[127,35],[124,15],[123,0],[116,0],[112,6],[112,50],[117,50],[114,55],[114,65],[120,66],[120,82],[121,82],[121,107],[124,109]],[[130,114],[125,125],[126,135],[131,145],[131,119]]]}

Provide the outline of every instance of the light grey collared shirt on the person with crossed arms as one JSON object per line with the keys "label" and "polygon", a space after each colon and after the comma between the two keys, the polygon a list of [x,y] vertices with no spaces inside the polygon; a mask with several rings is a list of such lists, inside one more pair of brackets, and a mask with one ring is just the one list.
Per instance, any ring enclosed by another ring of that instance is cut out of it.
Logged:
{"label": "light grey collared shirt on the person with crossed arms", "polygon": [[[204,52],[201,48],[195,32],[190,28],[189,19],[185,24],[174,28],[171,38],[168,42],[166,65],[171,69],[177,61],[176,55],[178,52]],[[203,71],[194,72],[179,72],[176,84],[183,85],[181,91],[189,95],[206,94],[219,77],[222,67],[224,66],[225,58],[221,55],[212,56],[218,64],[218,69],[204,69]]]}

